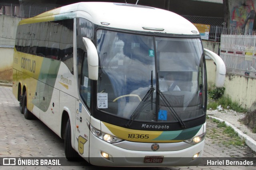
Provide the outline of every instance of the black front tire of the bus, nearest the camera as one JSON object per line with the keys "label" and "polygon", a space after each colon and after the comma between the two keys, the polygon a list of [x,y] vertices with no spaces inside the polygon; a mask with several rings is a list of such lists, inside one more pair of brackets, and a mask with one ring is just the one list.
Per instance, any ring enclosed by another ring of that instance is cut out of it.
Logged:
{"label": "black front tire of the bus, nearest the camera", "polygon": [[71,144],[71,126],[70,126],[70,119],[68,118],[68,122],[66,124],[66,130],[65,130],[65,138],[64,138],[64,148],[65,148],[65,156],[67,160],[76,160],[76,158],[79,158],[80,156],[78,153],[72,148]]}

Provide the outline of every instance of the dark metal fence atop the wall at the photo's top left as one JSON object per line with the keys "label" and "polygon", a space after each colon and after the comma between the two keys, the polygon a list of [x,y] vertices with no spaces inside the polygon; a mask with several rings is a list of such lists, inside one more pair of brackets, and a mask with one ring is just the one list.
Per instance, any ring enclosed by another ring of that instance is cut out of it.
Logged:
{"label": "dark metal fence atop the wall at the photo's top left", "polygon": [[0,3],[0,14],[7,16],[16,16],[20,18],[30,18],[43,12],[52,10],[56,7],[39,7],[22,4]]}

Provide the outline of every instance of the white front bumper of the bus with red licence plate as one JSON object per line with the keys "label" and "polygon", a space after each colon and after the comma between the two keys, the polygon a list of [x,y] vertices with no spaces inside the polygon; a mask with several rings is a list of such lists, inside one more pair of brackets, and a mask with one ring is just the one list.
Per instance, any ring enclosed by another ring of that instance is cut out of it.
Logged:
{"label": "white front bumper of the bus with red licence plate", "polygon": [[[89,162],[96,166],[196,166],[203,154],[204,140],[186,149],[176,151],[127,150],[90,135]],[[157,163],[156,163],[157,162]]]}

